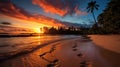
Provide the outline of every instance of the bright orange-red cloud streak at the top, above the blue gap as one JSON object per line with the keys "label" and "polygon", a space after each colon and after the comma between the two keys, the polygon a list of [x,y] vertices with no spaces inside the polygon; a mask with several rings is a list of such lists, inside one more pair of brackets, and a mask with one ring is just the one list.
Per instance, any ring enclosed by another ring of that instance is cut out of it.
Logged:
{"label": "bright orange-red cloud streak at the top, above the blue gap", "polygon": [[[60,1],[58,1],[58,2],[59,3],[57,3],[57,5],[59,5],[59,7],[60,7],[61,3],[60,3]],[[33,0],[33,4],[42,7],[44,9],[44,11],[47,12],[47,13],[50,12],[50,13],[53,13],[53,14],[58,14],[60,16],[64,16],[68,12],[66,9],[61,10],[58,7],[54,7],[54,5],[51,5],[46,0]]]}

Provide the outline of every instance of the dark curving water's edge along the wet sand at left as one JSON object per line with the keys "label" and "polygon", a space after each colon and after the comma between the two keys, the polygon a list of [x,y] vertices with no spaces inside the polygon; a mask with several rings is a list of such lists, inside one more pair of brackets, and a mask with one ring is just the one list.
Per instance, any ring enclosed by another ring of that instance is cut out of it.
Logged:
{"label": "dark curving water's edge along the wet sand at left", "polygon": [[[76,37],[71,37],[72,39],[76,38]],[[38,46],[31,46],[27,49],[24,49],[22,51],[19,51],[19,52],[15,52],[15,53],[8,53],[8,54],[4,54],[4,55],[1,55],[0,56],[0,62],[3,62],[5,60],[8,60],[8,59],[12,59],[14,57],[18,57],[18,56],[21,56],[21,55],[24,55],[24,54],[29,54],[31,52],[34,52],[42,47],[45,47],[49,44],[52,44],[52,43],[56,43],[56,42],[59,42],[59,41],[64,41],[64,40],[70,40],[71,38],[63,38],[63,39],[58,39],[58,40],[55,40],[55,41],[50,41],[48,43],[43,43],[43,44],[40,44]]]}

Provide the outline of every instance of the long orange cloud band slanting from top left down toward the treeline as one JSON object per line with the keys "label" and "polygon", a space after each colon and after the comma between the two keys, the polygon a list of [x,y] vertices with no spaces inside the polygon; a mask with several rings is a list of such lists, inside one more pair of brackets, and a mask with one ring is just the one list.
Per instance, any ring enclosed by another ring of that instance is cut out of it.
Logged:
{"label": "long orange cloud band slanting from top left down toward the treeline", "polygon": [[[60,11],[61,12],[61,11]],[[31,15],[24,9],[17,7],[11,2],[0,2],[0,13],[3,15],[19,18],[21,20],[38,22],[49,26],[64,26],[60,21],[43,15]]]}

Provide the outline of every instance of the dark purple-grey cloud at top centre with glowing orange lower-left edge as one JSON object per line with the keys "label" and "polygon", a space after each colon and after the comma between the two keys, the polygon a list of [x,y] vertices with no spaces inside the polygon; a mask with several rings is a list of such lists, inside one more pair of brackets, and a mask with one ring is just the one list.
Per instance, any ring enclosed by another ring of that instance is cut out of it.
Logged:
{"label": "dark purple-grey cloud at top centre with glowing orange lower-left edge", "polygon": [[41,7],[45,12],[65,16],[67,14],[86,14],[78,7],[86,0],[32,0],[32,3]]}

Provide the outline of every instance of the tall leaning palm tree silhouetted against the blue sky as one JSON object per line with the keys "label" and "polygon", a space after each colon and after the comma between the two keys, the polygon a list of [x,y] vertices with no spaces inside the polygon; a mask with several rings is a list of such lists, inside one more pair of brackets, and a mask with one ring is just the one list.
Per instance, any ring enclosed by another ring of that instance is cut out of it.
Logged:
{"label": "tall leaning palm tree silhouetted against the blue sky", "polygon": [[97,22],[96,22],[96,19],[95,19],[94,10],[95,9],[98,10],[98,7],[99,7],[99,5],[96,4],[96,1],[89,2],[88,6],[87,6],[87,10],[88,10],[87,12],[91,12],[92,13],[94,21],[95,21],[96,24],[97,24]]}

